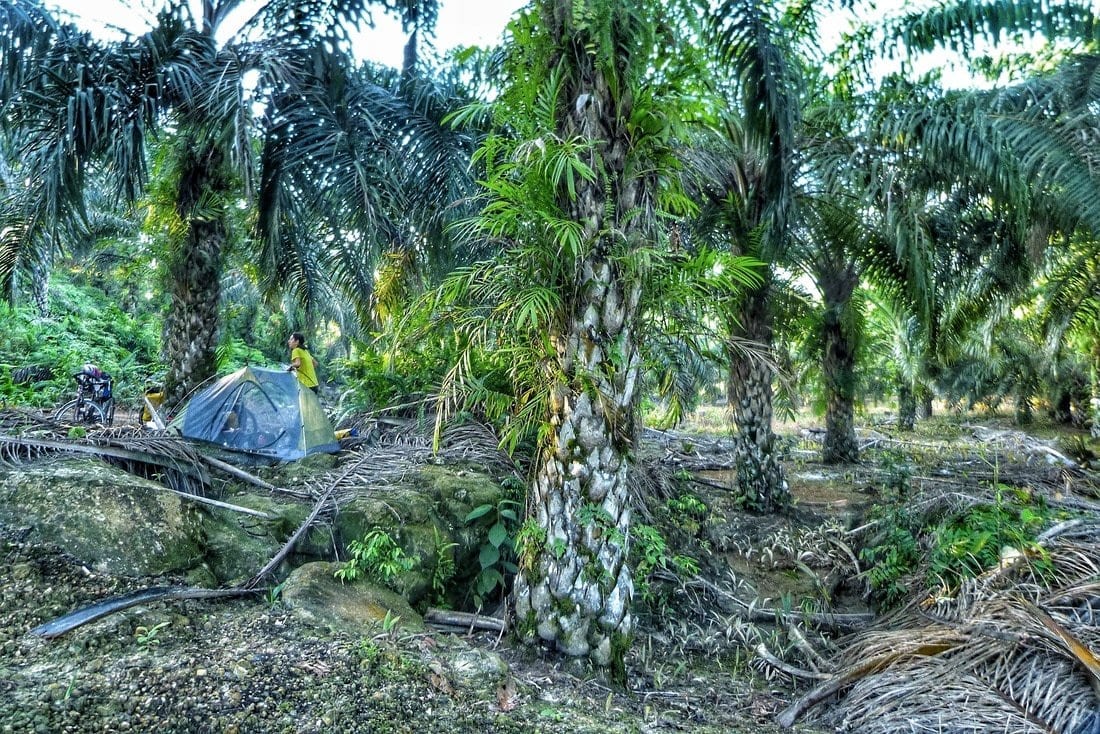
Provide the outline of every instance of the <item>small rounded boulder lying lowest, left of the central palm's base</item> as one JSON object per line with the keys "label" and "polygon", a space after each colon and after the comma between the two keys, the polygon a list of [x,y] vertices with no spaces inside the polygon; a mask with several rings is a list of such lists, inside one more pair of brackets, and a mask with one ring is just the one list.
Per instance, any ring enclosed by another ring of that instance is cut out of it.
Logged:
{"label": "small rounded boulder lying lowest, left of the central palm's base", "polygon": [[283,603],[306,622],[359,635],[387,618],[409,632],[425,629],[404,596],[365,581],[343,583],[333,576],[338,568],[323,561],[298,567],[283,585]]}

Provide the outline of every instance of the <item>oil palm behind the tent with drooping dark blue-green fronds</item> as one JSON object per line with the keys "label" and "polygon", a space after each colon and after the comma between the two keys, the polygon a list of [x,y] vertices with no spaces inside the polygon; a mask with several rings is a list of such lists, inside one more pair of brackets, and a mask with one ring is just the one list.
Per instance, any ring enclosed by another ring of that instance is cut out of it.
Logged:
{"label": "oil palm behind the tent with drooping dark blue-green fronds", "polygon": [[[138,37],[99,41],[36,2],[4,2],[2,121],[21,141],[28,186],[14,202],[19,237],[0,256],[3,282],[20,256],[31,255],[30,243],[48,238],[56,222],[79,221],[89,171],[103,171],[119,198],[132,201],[147,180],[150,142],[170,134],[175,223],[163,344],[169,403],[212,374],[233,208],[257,202],[258,270],[285,274],[282,253],[301,252],[306,238],[321,238],[317,254],[329,251],[323,243],[372,243],[386,230],[372,224],[402,202],[395,161],[439,162],[398,150],[419,140],[416,131],[395,139],[400,121],[421,118],[391,90],[358,84],[349,73],[349,29],[369,23],[375,6],[399,12],[410,30],[435,22],[435,0],[204,0],[198,18],[175,3]],[[252,14],[220,41],[241,9]],[[246,84],[253,74],[257,80]]]}

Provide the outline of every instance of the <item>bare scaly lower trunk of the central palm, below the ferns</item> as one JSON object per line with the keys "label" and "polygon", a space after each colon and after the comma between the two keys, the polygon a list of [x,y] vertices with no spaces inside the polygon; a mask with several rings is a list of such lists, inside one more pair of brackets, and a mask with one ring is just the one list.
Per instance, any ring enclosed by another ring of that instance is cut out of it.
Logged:
{"label": "bare scaly lower trunk of the central palm, below the ferns", "polygon": [[640,365],[625,317],[638,292],[624,294],[607,262],[584,271],[585,298],[559,340],[563,379],[550,415],[556,435],[529,504],[540,543],[520,548],[516,618],[527,637],[537,634],[566,655],[620,666],[634,628],[627,470]]}

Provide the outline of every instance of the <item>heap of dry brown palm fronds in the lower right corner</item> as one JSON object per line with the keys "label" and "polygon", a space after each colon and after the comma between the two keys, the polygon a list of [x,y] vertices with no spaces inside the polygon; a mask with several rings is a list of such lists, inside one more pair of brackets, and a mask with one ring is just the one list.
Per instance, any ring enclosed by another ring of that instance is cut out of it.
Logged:
{"label": "heap of dry brown palm fronds in the lower right corner", "polygon": [[833,678],[784,711],[840,732],[1092,732],[1100,725],[1100,522],[838,640]]}

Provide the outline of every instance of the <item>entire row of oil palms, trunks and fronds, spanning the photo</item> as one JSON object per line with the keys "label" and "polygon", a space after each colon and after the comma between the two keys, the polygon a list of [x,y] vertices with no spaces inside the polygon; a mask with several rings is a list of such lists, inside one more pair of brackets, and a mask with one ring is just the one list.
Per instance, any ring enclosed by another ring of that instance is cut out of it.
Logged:
{"label": "entire row of oil palms, trunks and fronds, spanning the photo", "polygon": [[[532,638],[622,660],[646,398],[674,418],[725,382],[737,492],[770,512],[790,502],[774,402],[807,363],[829,462],[858,459],[872,376],[910,426],[934,387],[1023,409],[1047,379],[1079,420],[1100,395],[1087,2],[942,6],[825,54],[821,3],[536,0],[497,51],[436,65],[433,1],[264,2],[228,35],[241,4],[99,41],[3,3],[4,295],[44,309],[62,253],[151,239],[169,402],[216,371],[241,272],[345,339],[447,346],[439,415],[535,457]],[[403,69],[354,59],[371,11],[402,13]],[[881,70],[977,33],[1062,43],[987,59],[994,91]]]}

